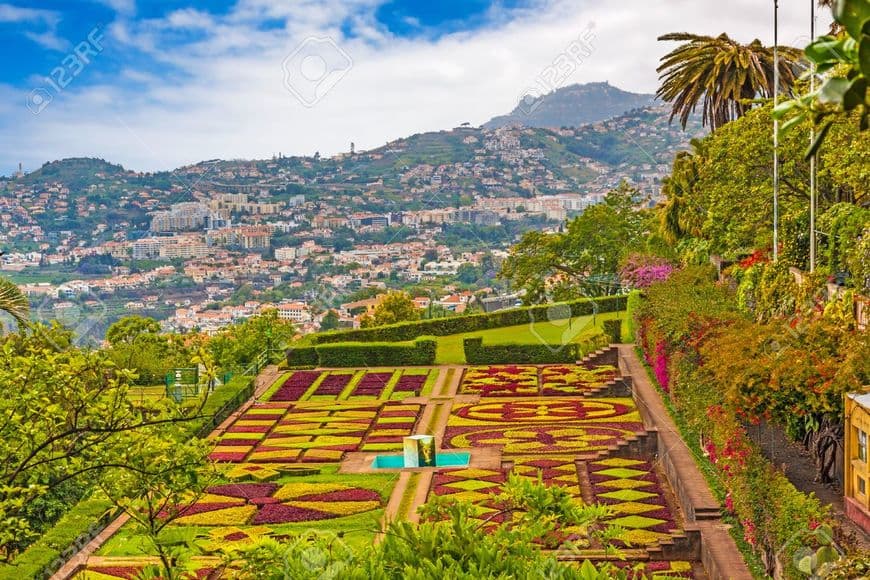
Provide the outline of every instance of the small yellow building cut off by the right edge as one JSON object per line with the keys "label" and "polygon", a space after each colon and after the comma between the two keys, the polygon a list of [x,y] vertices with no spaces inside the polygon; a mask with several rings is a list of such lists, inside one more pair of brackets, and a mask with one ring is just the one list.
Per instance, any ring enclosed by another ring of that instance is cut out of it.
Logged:
{"label": "small yellow building cut off by the right edge", "polygon": [[844,487],[846,515],[870,533],[870,391],[846,395]]}

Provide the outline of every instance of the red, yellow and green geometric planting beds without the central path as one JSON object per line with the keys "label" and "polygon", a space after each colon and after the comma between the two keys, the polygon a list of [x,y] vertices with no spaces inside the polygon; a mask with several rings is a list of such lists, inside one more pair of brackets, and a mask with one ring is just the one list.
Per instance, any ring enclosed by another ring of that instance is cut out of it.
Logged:
{"label": "red, yellow and green geometric planting beds without the central path", "polygon": [[[590,392],[614,378],[612,367],[553,365],[533,372],[502,366],[474,372],[463,384],[470,391],[470,378],[480,377],[479,400],[454,399],[444,432],[436,435],[443,449],[497,448],[502,468],[437,470],[430,495],[472,503],[481,529],[487,529],[511,517],[491,497],[513,473],[558,485],[577,502],[608,505],[607,520],[624,530],[617,544],[625,548],[649,546],[678,531],[668,492],[647,458],[609,455],[645,432],[631,397]],[[317,529],[321,520],[346,519],[351,530],[370,527],[360,518],[380,517],[395,474],[338,475],[338,464],[353,451],[400,452],[402,438],[417,433],[437,374],[399,368],[285,375],[267,400],[255,401],[215,438],[211,458],[223,464],[227,483],[212,486],[176,525],[194,526],[201,546],[293,533],[287,526]],[[525,377],[536,377],[536,393]],[[107,557],[88,563],[95,578],[130,578],[143,565],[125,560],[120,548],[103,553]],[[212,555],[205,550],[198,557],[205,562]],[[117,565],[110,565],[113,558]],[[688,562],[647,565],[652,578],[692,577]],[[201,572],[209,564],[203,566]]]}

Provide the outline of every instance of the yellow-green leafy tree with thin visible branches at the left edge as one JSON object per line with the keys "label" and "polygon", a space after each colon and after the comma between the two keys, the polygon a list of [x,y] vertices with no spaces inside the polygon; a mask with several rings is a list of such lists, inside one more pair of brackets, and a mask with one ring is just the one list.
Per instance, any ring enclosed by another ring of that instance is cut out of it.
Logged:
{"label": "yellow-green leafy tree with thin visible branches at the left edge", "polygon": [[0,338],[0,559],[34,535],[34,498],[123,468],[117,457],[130,434],[201,411],[185,416],[166,400],[134,406],[130,371],[71,347],[72,333],[57,324],[32,328]]}

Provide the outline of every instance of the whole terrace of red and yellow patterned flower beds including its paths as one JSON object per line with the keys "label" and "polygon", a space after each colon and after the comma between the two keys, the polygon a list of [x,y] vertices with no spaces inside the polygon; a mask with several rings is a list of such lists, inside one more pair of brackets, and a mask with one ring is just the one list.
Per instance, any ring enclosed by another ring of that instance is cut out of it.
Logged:
{"label": "whole terrace of red and yellow patterned flower beds including its paths", "polygon": [[[582,364],[286,372],[214,434],[219,480],[180,506],[167,533],[206,559],[221,544],[312,529],[362,548],[386,520],[417,521],[417,508],[436,496],[470,502],[486,529],[512,517],[494,497],[513,475],[559,486],[578,504],[610,507],[605,523],[619,526],[619,555],[586,530],[565,527],[557,537],[573,547],[560,548],[560,559],[642,565],[653,578],[715,576],[701,565],[695,508],[682,503],[685,482],[672,489],[673,461],[666,470],[656,456],[657,418],[635,400],[636,377],[604,364],[614,355]],[[377,454],[400,454],[411,434],[434,435],[439,449],[468,450],[472,462],[371,467]],[[89,567],[109,578],[117,561],[129,572],[131,558],[149,556],[133,546],[146,544],[125,526]]]}

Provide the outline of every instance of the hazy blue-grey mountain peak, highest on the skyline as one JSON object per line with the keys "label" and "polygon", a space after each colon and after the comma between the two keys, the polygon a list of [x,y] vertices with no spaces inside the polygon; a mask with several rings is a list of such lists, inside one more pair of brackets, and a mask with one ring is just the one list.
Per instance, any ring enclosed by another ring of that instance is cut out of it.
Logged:
{"label": "hazy blue-grey mountain peak, highest on the skyline", "polygon": [[607,82],[575,84],[556,89],[537,100],[520,102],[509,114],[493,117],[483,126],[486,129],[511,124],[547,129],[579,127],[654,103],[654,95],[630,93]]}

